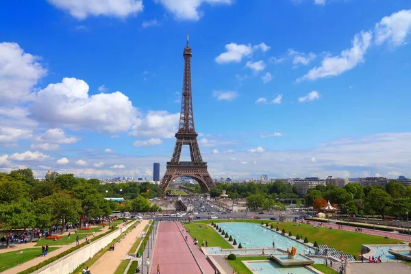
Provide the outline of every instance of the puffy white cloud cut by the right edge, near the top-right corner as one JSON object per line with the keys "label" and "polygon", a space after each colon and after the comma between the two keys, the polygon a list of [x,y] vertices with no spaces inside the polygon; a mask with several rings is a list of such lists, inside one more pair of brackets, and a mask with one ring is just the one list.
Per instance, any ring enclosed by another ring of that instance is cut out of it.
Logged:
{"label": "puffy white cloud cut by the right edge, near the top-right corner", "polygon": [[400,10],[385,16],[375,25],[375,42],[381,45],[388,40],[394,47],[406,43],[411,32],[411,10]]}

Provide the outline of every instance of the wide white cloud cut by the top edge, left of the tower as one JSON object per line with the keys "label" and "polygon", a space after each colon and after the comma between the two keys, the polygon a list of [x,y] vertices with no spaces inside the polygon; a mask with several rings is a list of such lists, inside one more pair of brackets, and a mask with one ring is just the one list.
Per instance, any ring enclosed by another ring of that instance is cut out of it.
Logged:
{"label": "wide white cloud cut by the top edge, left of the tower", "polygon": [[125,18],[142,12],[142,0],[47,0],[60,10],[84,20],[88,16],[113,16]]}

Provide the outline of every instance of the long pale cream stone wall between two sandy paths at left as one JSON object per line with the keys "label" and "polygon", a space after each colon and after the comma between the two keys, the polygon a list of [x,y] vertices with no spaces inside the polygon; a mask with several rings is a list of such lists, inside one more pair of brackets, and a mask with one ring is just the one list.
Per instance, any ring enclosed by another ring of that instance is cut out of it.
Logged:
{"label": "long pale cream stone wall between two sandy paths at left", "polygon": [[72,273],[77,267],[86,262],[88,259],[95,256],[97,252],[103,249],[106,245],[110,244],[112,240],[119,237],[122,232],[134,225],[136,222],[129,223],[125,227],[121,227],[120,229],[116,229],[114,232],[91,242],[90,245],[86,245],[81,249],[77,249],[70,254],[52,262],[51,264],[47,264],[47,266],[38,269],[35,271],[34,274],[69,274]]}

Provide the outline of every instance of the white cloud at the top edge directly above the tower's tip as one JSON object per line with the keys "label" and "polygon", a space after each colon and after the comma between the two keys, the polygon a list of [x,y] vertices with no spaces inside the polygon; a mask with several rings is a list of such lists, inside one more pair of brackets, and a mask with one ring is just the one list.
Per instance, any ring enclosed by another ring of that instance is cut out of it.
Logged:
{"label": "white cloud at the top edge directly above the tower's tip", "polygon": [[198,21],[203,12],[199,10],[203,3],[210,5],[215,4],[231,4],[232,0],[154,0],[157,3],[161,3],[166,10],[169,10],[174,14],[175,18],[179,20]]}

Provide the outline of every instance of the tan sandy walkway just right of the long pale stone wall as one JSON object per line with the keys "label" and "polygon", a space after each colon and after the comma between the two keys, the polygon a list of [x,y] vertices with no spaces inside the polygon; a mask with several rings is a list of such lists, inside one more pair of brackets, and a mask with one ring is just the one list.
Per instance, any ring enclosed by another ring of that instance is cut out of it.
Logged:
{"label": "tan sandy walkway just right of the long pale stone wall", "polygon": [[112,274],[116,271],[117,267],[123,262],[128,254],[128,251],[136,242],[136,238],[149,223],[149,220],[142,220],[136,228],[132,229],[121,242],[117,242],[114,251],[105,252],[95,264],[90,267],[91,273],[97,274]]}

